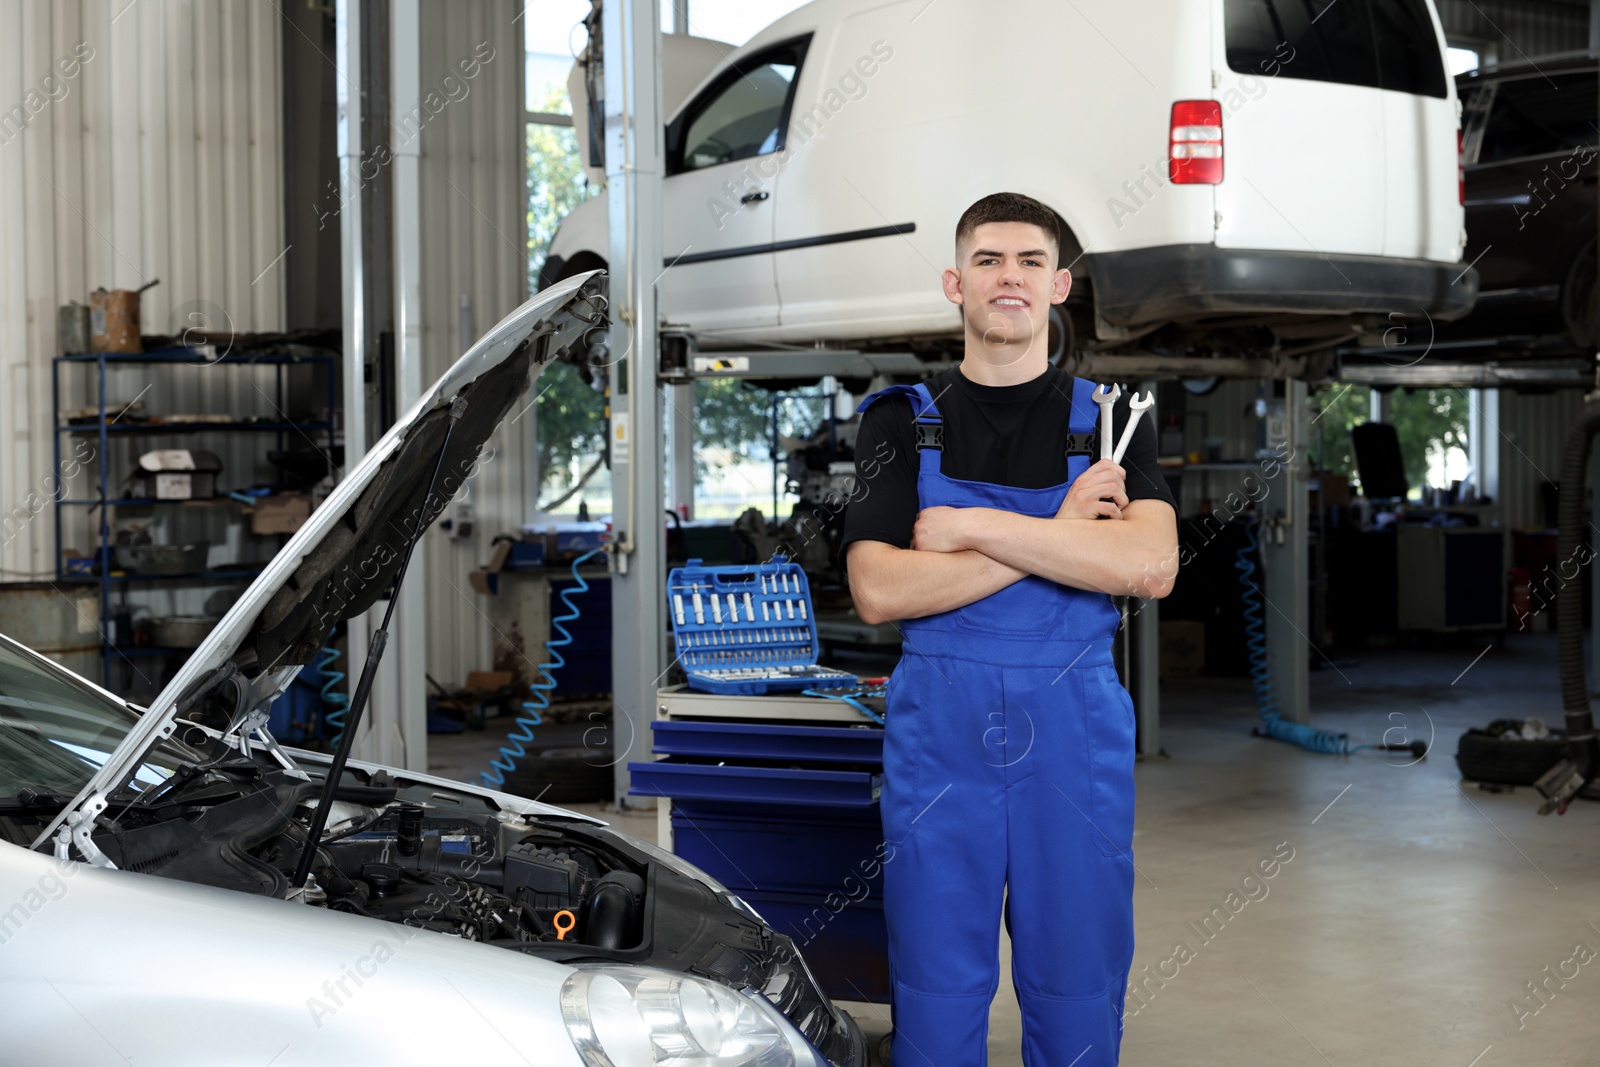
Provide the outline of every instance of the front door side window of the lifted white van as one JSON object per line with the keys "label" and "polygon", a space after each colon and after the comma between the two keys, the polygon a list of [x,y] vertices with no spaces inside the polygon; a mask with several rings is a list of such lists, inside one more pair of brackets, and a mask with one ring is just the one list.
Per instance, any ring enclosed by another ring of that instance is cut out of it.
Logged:
{"label": "front door side window of the lifted white van", "polygon": [[805,42],[741,62],[667,126],[667,173],[717,166],[784,147]]}

